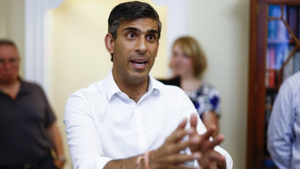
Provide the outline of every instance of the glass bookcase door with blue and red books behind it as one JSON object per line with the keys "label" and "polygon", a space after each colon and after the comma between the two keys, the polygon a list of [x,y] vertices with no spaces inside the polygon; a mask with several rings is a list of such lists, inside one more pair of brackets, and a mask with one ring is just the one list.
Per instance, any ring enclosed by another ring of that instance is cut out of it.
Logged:
{"label": "glass bookcase door with blue and red books behind it", "polygon": [[281,83],[300,70],[300,6],[269,4],[267,10],[263,168],[276,168],[266,149],[266,131]]}

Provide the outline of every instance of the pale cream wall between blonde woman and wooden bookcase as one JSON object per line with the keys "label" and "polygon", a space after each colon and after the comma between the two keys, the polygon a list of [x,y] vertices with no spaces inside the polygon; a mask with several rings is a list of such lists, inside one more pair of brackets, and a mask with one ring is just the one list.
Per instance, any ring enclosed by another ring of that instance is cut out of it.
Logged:
{"label": "pale cream wall between blonde woman and wooden bookcase", "polygon": [[205,80],[222,99],[222,147],[234,168],[246,167],[249,0],[190,0],[189,33],[202,44],[208,59]]}

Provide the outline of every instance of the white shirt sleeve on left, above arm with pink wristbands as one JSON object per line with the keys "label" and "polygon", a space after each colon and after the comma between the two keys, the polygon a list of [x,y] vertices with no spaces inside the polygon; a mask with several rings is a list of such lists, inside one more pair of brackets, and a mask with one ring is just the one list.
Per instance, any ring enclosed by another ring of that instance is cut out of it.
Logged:
{"label": "white shirt sleeve on left, above arm with pink wristbands", "polygon": [[112,160],[103,154],[101,138],[85,95],[77,92],[69,97],[64,123],[74,169],[101,169]]}

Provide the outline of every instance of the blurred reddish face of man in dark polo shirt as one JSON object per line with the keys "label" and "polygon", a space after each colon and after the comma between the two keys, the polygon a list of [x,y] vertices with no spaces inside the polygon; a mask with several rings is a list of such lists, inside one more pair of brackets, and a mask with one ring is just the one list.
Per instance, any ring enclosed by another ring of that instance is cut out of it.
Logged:
{"label": "blurred reddish face of man in dark polo shirt", "polygon": [[19,56],[11,45],[0,45],[0,82],[8,83],[16,80],[19,73]]}

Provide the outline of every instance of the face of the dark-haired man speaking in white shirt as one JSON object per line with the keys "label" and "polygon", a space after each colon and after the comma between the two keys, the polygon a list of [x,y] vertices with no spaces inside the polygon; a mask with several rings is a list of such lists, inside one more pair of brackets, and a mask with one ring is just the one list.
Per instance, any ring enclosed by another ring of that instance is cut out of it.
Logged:
{"label": "face of the dark-haired man speaking in white shirt", "polygon": [[124,21],[114,42],[113,69],[127,82],[142,82],[154,64],[158,23],[151,18]]}

